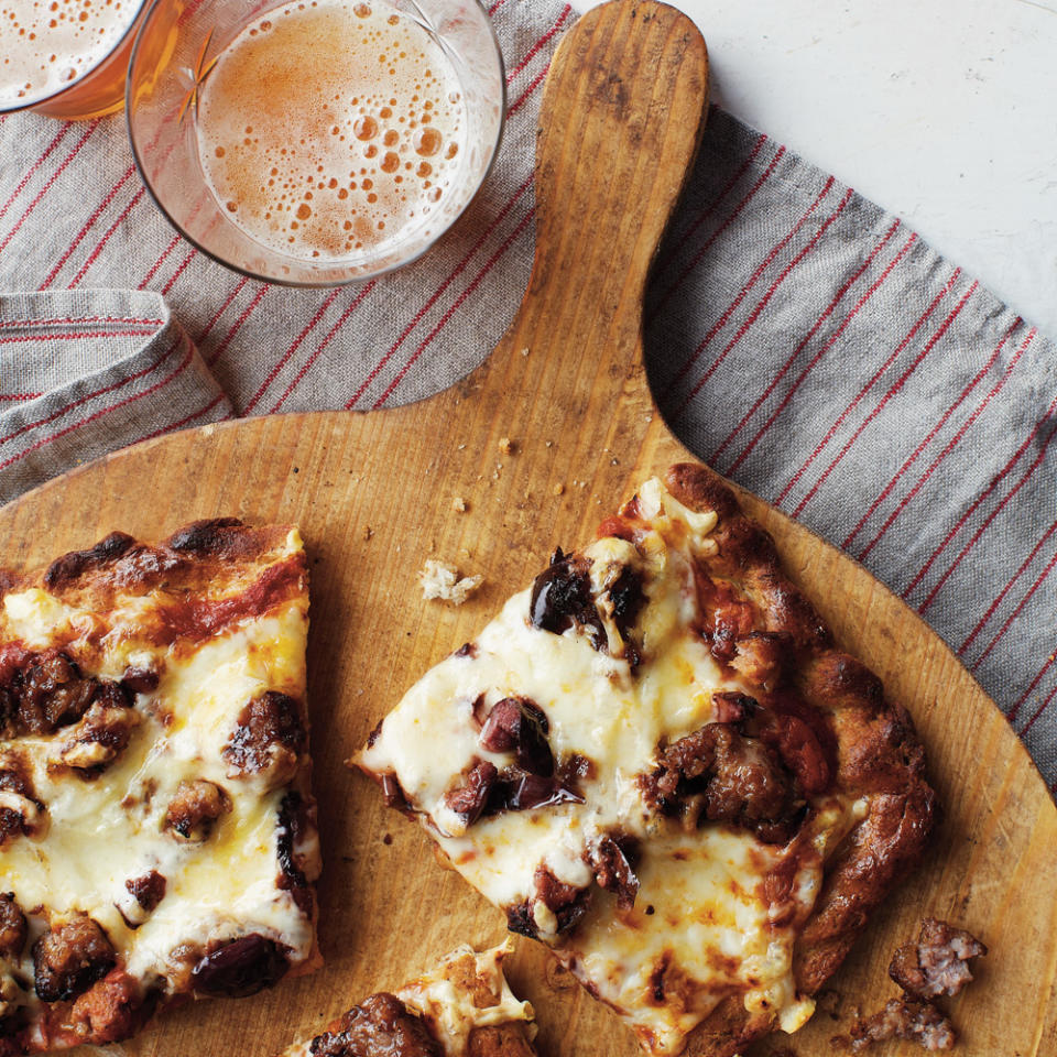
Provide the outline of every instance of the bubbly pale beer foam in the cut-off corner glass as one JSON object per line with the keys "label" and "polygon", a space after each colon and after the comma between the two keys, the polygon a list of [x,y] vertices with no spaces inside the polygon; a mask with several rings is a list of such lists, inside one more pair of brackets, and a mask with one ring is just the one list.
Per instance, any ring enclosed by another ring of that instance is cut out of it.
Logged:
{"label": "bubbly pale beer foam in the cut-off corner glass", "polygon": [[0,0],[0,110],[67,88],[112,52],[135,0]]}

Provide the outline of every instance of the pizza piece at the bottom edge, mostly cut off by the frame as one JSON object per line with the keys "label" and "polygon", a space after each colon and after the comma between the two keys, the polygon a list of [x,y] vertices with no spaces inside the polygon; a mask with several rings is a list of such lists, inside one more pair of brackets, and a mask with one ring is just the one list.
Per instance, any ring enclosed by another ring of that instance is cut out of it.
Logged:
{"label": "pizza piece at the bottom edge, mostly cut off by the frame", "polygon": [[459,947],[395,994],[372,994],[282,1057],[533,1057],[533,1010],[514,998],[501,947]]}

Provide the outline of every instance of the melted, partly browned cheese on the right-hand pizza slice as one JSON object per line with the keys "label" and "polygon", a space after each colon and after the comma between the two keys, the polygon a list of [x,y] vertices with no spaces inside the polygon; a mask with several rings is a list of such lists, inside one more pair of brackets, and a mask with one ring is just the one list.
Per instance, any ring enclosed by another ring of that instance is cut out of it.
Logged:
{"label": "melted, partly browned cheese on the right-hand pizza slice", "polygon": [[[540,865],[584,887],[593,880],[592,841],[606,832],[639,838],[640,890],[631,912],[618,911],[612,895],[596,890],[569,935],[556,935],[557,919],[542,901],[532,904],[533,916],[541,938],[642,1044],[667,1055],[677,1054],[731,992],[789,1031],[814,1004],[796,992],[795,931],[778,924],[793,914],[763,895],[763,881],[784,850],[722,825],[685,833],[644,803],[639,777],[656,766],[657,747],[713,721],[713,693],[752,689],[724,674],[690,631],[699,617],[691,558],[713,551],[705,534],[716,515],[687,510],[660,481],[639,495],[652,531],[636,540],[638,548],[604,538],[584,552],[596,592],[613,562],[643,573],[646,604],[636,622],[643,661],[635,672],[597,652],[577,629],[558,635],[534,628],[531,592],[523,591],[484,628],[471,655],[448,657],[407,691],[359,762],[396,775],[455,868],[503,908],[532,900]],[[595,771],[580,782],[582,804],[506,811],[467,828],[444,795],[476,760],[498,769],[511,763],[510,754],[482,750],[473,720],[508,696],[528,697],[543,709],[556,760],[579,754]],[[813,807],[802,844],[814,854],[799,858],[792,885],[799,919],[818,896],[826,852],[856,815],[853,805],[836,797]]]}

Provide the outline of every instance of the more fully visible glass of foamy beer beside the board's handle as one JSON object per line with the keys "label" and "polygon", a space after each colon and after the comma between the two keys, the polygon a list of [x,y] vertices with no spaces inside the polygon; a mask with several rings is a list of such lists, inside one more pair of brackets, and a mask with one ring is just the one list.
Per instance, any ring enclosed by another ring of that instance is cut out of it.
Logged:
{"label": "more fully visible glass of foamy beer beside the board's handle", "polygon": [[190,242],[295,286],[419,257],[491,167],[505,77],[477,0],[155,0],[127,109]]}

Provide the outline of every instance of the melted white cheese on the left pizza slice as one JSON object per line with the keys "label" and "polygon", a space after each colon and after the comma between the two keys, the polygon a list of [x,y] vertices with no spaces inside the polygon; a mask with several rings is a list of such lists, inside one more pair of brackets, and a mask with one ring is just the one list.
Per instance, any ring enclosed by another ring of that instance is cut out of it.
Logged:
{"label": "melted white cheese on the left pizza slice", "polygon": [[[301,549],[296,533],[287,546],[290,553]],[[143,604],[127,599],[120,611],[128,617]],[[51,622],[63,619],[57,606],[36,589],[9,596],[4,636],[46,645],[56,626]],[[67,613],[65,626],[78,626],[83,615]],[[120,625],[121,619],[108,614],[107,623]],[[116,679],[131,664],[160,671],[161,679],[155,690],[137,695],[140,722],[97,777],[84,780],[55,766],[68,730],[0,743],[29,765],[34,796],[45,807],[46,827],[12,840],[0,853],[0,891],[14,893],[37,931],[47,917],[57,923],[88,914],[128,972],[146,983],[175,971],[173,952],[182,945],[204,948],[250,931],[290,948],[292,965],[310,957],[312,922],[277,884],[285,791],[270,789],[258,775],[236,776],[221,755],[252,698],[265,690],[304,697],[306,638],[307,599],[295,598],[268,617],[218,632],[189,656],[186,644],[177,644],[177,655],[174,647],[138,639],[134,625],[92,641],[92,653],[101,645],[102,655],[90,674]],[[78,647],[87,649],[87,642],[74,640],[68,649],[76,656]],[[196,780],[220,786],[230,806],[204,841],[165,829],[177,787]],[[152,870],[166,887],[148,914],[127,882]],[[18,968],[32,980],[29,947]]]}

